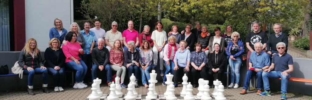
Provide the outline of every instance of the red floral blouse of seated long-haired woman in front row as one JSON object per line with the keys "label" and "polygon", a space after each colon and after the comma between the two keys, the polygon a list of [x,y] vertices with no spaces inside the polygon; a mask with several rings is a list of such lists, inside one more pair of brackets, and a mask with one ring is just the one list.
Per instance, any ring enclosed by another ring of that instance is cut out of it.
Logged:
{"label": "red floral blouse of seated long-haired woman in front row", "polygon": [[115,50],[110,50],[110,64],[114,63],[124,63],[124,52],[116,53]]}

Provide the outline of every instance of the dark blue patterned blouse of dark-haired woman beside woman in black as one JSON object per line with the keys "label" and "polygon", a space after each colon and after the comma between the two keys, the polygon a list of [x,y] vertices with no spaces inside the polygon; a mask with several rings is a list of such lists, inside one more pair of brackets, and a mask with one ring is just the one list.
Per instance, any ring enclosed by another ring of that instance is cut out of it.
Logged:
{"label": "dark blue patterned blouse of dark-haired woman beside woman in black", "polygon": [[202,65],[202,63],[207,63],[207,56],[204,51],[191,52],[191,63],[194,63],[197,67]]}

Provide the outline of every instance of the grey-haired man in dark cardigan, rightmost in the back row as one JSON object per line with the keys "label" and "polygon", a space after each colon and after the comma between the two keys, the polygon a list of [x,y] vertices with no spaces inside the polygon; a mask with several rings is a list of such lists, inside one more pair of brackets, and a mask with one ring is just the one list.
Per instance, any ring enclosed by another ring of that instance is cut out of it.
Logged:
{"label": "grey-haired man in dark cardigan, rightmost in the back row", "polygon": [[287,52],[288,47],[288,37],[287,34],[283,34],[281,31],[282,25],[279,23],[276,23],[273,25],[273,30],[275,34],[270,34],[269,40],[266,42],[266,50],[267,54],[270,57],[270,60],[272,61],[272,55],[278,53],[277,49],[275,48],[276,44],[279,42],[283,42],[286,45],[285,52]]}

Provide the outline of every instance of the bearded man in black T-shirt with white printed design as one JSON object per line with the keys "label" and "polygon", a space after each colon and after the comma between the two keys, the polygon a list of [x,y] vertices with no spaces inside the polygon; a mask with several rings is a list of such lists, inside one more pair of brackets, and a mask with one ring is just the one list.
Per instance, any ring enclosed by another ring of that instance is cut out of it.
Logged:
{"label": "bearded man in black T-shirt with white printed design", "polygon": [[257,42],[261,42],[263,44],[263,47],[261,50],[263,50],[266,53],[266,42],[268,41],[268,36],[266,36],[266,33],[263,31],[259,30],[260,28],[260,22],[259,21],[254,21],[252,22],[252,29],[253,31],[247,34],[246,37],[246,47],[249,50],[247,52],[247,70],[249,70],[249,58],[251,52],[255,51],[254,45]]}

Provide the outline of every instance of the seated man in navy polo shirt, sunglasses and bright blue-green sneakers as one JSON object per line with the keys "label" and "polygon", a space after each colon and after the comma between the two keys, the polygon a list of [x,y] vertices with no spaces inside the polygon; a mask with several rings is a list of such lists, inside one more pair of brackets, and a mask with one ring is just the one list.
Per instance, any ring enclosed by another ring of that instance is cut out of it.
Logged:
{"label": "seated man in navy polo shirt, sunglasses and bright blue-green sneakers", "polygon": [[[281,100],[286,100],[287,94],[287,83],[288,79],[290,79],[290,72],[294,71],[294,62],[292,60],[291,55],[285,52],[286,44],[283,42],[279,42],[276,44],[276,48],[278,50],[278,54],[273,55],[272,64],[270,68],[263,70],[262,79],[263,79],[263,87],[265,91],[260,93],[261,96],[271,96],[269,78],[281,78]],[[271,71],[275,68],[275,71]]]}

